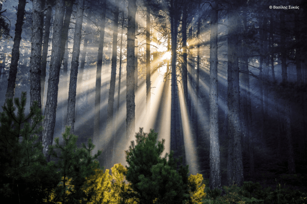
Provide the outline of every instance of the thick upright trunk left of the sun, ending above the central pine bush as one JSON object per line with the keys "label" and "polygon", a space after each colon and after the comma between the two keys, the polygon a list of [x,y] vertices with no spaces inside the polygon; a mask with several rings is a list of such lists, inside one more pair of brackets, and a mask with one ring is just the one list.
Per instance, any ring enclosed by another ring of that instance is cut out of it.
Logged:
{"label": "thick upright trunk left of the sun, ending above the central pine bush", "polygon": [[131,138],[135,134],[135,37],[136,37],[136,0],[128,3],[128,28],[127,28],[127,92],[126,92],[126,137]]}

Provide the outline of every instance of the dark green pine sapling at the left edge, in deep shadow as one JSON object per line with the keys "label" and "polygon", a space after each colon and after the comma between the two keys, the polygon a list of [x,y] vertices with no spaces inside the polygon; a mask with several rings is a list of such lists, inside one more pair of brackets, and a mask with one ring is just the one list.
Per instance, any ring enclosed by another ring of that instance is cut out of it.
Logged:
{"label": "dark green pine sapling at the left edge, in deep shadow", "polygon": [[36,135],[42,130],[40,109],[34,103],[25,115],[26,101],[25,92],[14,103],[8,99],[0,114],[0,197],[33,203],[51,192],[58,177],[53,164],[47,164],[42,155]]}

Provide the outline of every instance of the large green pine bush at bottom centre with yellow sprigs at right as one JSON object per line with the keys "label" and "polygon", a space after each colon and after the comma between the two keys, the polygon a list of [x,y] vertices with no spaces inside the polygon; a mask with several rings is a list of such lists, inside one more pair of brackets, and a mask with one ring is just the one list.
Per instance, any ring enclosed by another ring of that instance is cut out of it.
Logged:
{"label": "large green pine bush at bottom centre with yellow sprigs at right", "polygon": [[188,178],[188,166],[180,166],[177,170],[178,159],[173,158],[173,151],[161,157],[164,150],[164,142],[158,141],[158,133],[150,130],[146,134],[140,128],[136,134],[135,141],[126,153],[128,163],[125,173],[127,181],[130,182],[131,189],[127,196],[134,197],[142,203],[183,203],[191,202],[190,194],[195,191],[196,200],[203,194],[199,188],[200,175]]}

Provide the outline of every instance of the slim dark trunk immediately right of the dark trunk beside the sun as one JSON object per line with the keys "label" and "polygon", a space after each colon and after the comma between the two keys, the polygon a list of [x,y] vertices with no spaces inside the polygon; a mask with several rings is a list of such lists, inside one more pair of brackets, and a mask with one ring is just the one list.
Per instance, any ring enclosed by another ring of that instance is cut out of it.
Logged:
{"label": "slim dark trunk immediately right of the dark trunk beside the sun", "polygon": [[182,42],[183,42],[183,65],[182,82],[185,103],[188,104],[188,70],[187,70],[187,3],[183,7],[182,16]]}

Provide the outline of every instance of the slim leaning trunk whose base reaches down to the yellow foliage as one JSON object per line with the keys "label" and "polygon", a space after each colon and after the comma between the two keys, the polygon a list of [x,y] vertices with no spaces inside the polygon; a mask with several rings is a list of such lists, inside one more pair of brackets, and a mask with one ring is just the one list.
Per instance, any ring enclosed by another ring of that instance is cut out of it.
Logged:
{"label": "slim leaning trunk whose base reaches down to the yellow foliage", "polygon": [[113,154],[113,109],[114,109],[114,94],[115,94],[115,83],[116,83],[116,64],[117,64],[117,36],[118,36],[118,15],[119,15],[119,6],[118,0],[115,2],[115,13],[114,13],[114,24],[113,24],[113,47],[112,47],[112,64],[111,64],[111,80],[110,80],[110,89],[108,95],[107,103],[107,116],[106,116],[106,138],[111,137],[111,142],[107,147],[106,161],[108,166],[111,166],[112,154]]}

